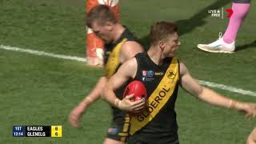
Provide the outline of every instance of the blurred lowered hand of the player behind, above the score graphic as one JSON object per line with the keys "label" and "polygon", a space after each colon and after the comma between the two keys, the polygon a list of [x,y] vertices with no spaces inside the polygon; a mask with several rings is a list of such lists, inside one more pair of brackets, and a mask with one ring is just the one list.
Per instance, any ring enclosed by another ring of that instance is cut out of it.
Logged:
{"label": "blurred lowered hand of the player behind, above the score graphic", "polygon": [[79,127],[81,122],[81,117],[85,108],[81,105],[74,107],[74,109],[70,112],[69,121],[70,125],[73,127]]}

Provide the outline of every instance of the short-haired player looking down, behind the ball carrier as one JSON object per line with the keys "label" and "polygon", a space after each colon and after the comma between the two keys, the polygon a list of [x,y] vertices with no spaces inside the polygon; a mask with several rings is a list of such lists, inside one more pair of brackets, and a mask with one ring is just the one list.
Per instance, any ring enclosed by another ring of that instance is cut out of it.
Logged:
{"label": "short-haired player looking down, behind the ball carrier", "polygon": [[[99,78],[94,90],[70,112],[70,124],[74,127],[79,126],[80,118],[88,106],[100,98],[106,82],[116,72],[118,67],[127,59],[143,51],[142,46],[135,42],[136,38],[130,33],[130,30],[117,22],[114,13],[107,6],[99,5],[90,10],[89,14],[87,14],[86,25],[105,43],[105,75]],[[117,94],[122,94],[122,92],[122,88],[116,91]],[[127,136],[127,131],[123,129],[126,113],[115,107],[112,108],[112,126],[108,130],[104,143],[121,144],[126,141]]]}

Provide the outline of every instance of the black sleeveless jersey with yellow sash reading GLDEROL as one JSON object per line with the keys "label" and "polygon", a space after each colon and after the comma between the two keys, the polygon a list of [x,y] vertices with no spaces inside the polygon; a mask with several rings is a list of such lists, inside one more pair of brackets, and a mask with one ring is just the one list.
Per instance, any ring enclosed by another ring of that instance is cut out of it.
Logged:
{"label": "black sleeveless jersey with yellow sash reading GLDEROL", "polygon": [[137,54],[135,58],[138,70],[134,80],[146,86],[149,98],[145,110],[130,116],[130,135],[144,142],[154,139],[158,139],[159,143],[171,142],[171,138],[178,137],[174,110],[178,95],[178,59],[166,58],[158,66],[147,53]]}

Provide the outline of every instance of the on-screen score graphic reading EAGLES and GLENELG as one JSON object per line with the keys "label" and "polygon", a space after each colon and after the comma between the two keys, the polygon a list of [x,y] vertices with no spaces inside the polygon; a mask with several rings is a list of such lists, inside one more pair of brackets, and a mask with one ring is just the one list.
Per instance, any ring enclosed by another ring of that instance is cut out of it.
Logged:
{"label": "on-screen score graphic reading EAGLES and GLENELG", "polygon": [[13,137],[62,137],[62,126],[13,126]]}

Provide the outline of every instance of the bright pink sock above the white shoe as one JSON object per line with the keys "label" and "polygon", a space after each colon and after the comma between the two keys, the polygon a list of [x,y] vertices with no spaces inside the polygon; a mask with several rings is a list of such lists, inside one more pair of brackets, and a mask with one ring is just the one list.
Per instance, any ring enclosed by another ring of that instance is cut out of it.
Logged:
{"label": "bright pink sock above the white shoe", "polygon": [[227,26],[226,32],[223,35],[224,42],[234,42],[237,37],[238,30],[242,25],[242,21],[246,18],[249,8],[250,3],[233,3],[232,10],[234,13],[231,16],[229,26]]}

